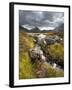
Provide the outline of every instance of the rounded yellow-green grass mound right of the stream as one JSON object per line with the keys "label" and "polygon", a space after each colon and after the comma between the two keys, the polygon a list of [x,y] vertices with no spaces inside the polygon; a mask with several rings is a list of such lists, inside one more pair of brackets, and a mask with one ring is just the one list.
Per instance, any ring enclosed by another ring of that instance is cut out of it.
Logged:
{"label": "rounded yellow-green grass mound right of the stream", "polygon": [[48,46],[48,52],[51,60],[64,67],[64,45],[55,43]]}

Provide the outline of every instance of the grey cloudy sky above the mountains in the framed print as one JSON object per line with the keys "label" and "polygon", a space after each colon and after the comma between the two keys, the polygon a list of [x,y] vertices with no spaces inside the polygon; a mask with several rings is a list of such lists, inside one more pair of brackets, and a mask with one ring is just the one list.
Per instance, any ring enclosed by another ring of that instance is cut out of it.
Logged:
{"label": "grey cloudy sky above the mountains in the framed print", "polygon": [[19,10],[19,25],[29,30],[35,27],[40,30],[53,30],[63,23],[63,12]]}

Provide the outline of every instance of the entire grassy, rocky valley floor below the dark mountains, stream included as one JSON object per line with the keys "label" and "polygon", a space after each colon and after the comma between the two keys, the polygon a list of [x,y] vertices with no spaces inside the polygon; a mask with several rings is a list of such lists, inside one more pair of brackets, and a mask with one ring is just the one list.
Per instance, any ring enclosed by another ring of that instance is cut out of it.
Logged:
{"label": "entire grassy, rocky valley floor below the dark mountains, stream included", "polygon": [[[40,36],[42,36],[42,39]],[[56,41],[48,38],[49,34],[38,33],[33,35],[23,31],[20,32],[19,79],[64,76],[63,38],[60,37],[61,40],[60,38],[56,40],[58,38],[56,37],[54,39]],[[50,38],[52,38],[52,35],[50,35]],[[49,43],[48,40],[50,40]]]}

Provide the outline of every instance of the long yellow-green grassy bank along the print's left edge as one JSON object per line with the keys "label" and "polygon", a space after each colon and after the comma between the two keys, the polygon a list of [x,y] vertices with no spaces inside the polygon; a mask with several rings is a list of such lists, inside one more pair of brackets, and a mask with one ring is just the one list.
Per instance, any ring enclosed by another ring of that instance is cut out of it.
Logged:
{"label": "long yellow-green grassy bank along the print's left edge", "polygon": [[34,78],[33,66],[28,54],[29,48],[34,46],[33,38],[21,31],[19,40],[19,79]]}

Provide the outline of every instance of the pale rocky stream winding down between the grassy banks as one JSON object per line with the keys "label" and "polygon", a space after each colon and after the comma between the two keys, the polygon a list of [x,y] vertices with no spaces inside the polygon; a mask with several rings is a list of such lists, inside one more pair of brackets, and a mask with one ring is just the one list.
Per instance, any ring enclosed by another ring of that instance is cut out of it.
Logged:
{"label": "pale rocky stream winding down between the grassy banks", "polygon": [[52,68],[54,68],[58,71],[59,70],[63,71],[61,66],[57,65],[55,62],[51,63],[47,60],[48,56],[47,56],[46,50],[43,50],[41,47],[42,42],[45,45],[45,47],[47,47],[47,42],[45,41],[45,38],[46,38],[46,35],[39,34],[37,36],[37,40],[34,39],[35,47],[29,50],[31,58],[41,59],[43,63],[50,65]]}

